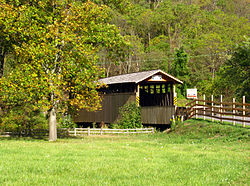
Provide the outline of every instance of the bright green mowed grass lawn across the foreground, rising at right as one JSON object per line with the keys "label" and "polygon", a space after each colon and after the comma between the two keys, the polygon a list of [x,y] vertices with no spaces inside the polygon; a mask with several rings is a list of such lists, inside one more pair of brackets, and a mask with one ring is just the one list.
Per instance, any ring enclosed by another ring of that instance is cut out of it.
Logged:
{"label": "bright green mowed grass lawn across the foreground, rising at right", "polygon": [[249,129],[195,120],[169,134],[0,138],[0,185],[248,185],[249,152]]}

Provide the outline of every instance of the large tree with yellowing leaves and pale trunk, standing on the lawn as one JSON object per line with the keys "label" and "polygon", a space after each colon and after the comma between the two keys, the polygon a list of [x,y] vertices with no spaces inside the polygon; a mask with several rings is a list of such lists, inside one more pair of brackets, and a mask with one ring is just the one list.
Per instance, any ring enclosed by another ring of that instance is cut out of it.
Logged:
{"label": "large tree with yellowing leaves and pale trunk, standing on the lawn", "polygon": [[99,48],[119,51],[125,43],[109,24],[106,6],[91,1],[1,2],[18,12],[10,29],[26,41],[14,45],[18,65],[0,80],[1,103],[14,107],[28,102],[47,111],[49,140],[55,141],[57,112],[71,106],[100,107]]}

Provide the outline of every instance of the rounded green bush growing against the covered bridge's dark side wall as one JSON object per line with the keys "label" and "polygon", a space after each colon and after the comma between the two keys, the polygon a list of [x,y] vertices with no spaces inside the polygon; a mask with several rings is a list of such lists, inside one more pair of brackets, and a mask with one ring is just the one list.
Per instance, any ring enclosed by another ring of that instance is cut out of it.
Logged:
{"label": "rounded green bush growing against the covered bridge's dark side wall", "polygon": [[112,128],[141,128],[141,109],[135,102],[125,104],[119,109],[120,119]]}

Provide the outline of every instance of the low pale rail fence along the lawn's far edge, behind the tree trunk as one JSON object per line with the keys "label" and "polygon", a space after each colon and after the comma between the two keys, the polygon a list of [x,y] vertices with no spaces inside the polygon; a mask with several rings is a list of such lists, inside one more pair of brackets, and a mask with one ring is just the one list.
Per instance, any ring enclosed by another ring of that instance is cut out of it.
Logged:
{"label": "low pale rail fence along the lawn's far edge, behind the tree trunk", "polygon": [[[84,135],[105,135],[105,134],[154,134],[154,128],[138,128],[138,129],[107,129],[107,128],[74,128],[57,129],[57,135],[59,137],[67,136],[84,136]],[[29,133],[22,131],[21,135],[17,132],[2,132],[2,136],[34,136],[42,137],[48,136],[49,130],[47,129],[31,129]]]}

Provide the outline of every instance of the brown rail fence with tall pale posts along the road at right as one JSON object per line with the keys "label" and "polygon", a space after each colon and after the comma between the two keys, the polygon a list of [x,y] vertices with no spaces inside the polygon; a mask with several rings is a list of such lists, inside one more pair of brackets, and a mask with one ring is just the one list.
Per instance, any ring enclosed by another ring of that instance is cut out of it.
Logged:
{"label": "brown rail fence with tall pale posts along the road at right", "polygon": [[214,101],[213,96],[211,100],[206,100],[205,95],[203,99],[196,99],[187,105],[187,119],[195,116],[203,116],[203,119],[211,118],[212,121],[219,120],[236,123],[242,123],[245,127],[246,123],[250,124],[250,104],[245,103],[245,96],[243,96],[242,103],[236,103],[235,98],[232,102],[223,102],[222,96],[219,101]]}

